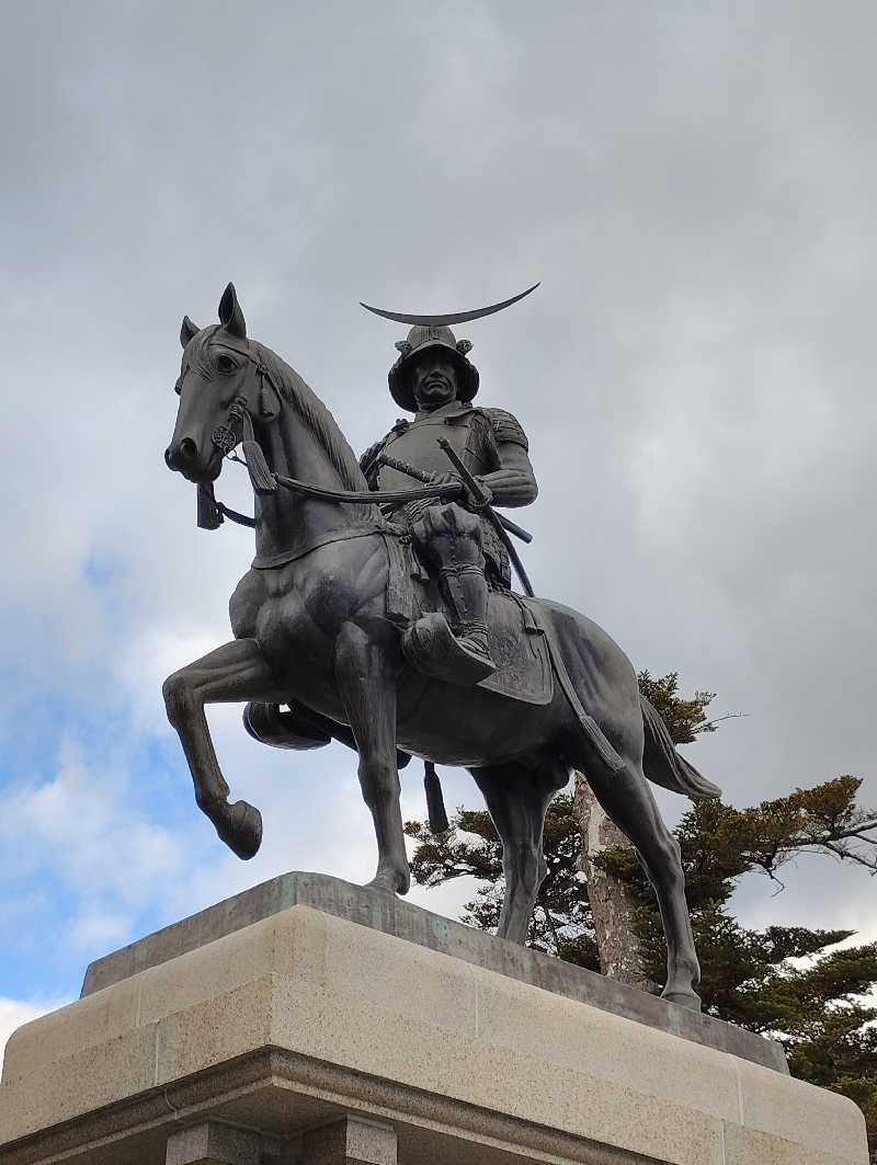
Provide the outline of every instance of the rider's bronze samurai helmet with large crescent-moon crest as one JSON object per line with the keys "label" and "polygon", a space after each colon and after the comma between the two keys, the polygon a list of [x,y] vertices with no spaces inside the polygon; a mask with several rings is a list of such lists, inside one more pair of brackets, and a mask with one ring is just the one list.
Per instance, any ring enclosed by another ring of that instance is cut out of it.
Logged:
{"label": "rider's bronze samurai helmet with large crescent-moon crest", "polygon": [[509,308],[512,303],[517,303],[518,299],[523,299],[524,296],[535,291],[538,285],[538,283],[533,283],[531,288],[522,291],[521,295],[512,296],[511,299],[503,299],[502,303],[490,304],[489,308],[476,308],[474,311],[457,311],[446,316],[411,316],[408,312],[386,311],[383,308],[372,308],[367,303],[361,303],[362,308],[374,312],[375,316],[382,316],[384,319],[394,319],[397,324],[413,325],[408,333],[408,338],[396,344],[396,351],[399,353],[399,356],[387,376],[390,393],[396,404],[401,409],[408,409],[409,412],[417,412],[417,402],[415,401],[411,387],[411,368],[417,355],[426,348],[432,347],[446,348],[453,355],[460,377],[460,388],[457,398],[458,401],[468,403],[475,393],[478,393],[478,368],[466,359],[466,354],[472,351],[471,341],[455,339],[454,333],[451,331],[451,324],[466,324],[471,319],[493,316],[494,312],[502,311],[503,308]]}

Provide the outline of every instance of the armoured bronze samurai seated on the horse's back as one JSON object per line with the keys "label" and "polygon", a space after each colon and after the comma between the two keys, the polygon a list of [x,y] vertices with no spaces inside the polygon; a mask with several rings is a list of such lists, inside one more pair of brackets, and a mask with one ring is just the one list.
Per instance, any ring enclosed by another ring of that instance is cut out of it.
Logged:
{"label": "armoured bronze samurai seated on the horse's back", "polygon": [[460,486],[459,501],[431,497],[384,508],[391,522],[410,532],[448,610],[448,620],[439,612],[422,615],[405,630],[402,645],[419,671],[474,685],[496,670],[487,637],[488,587],[510,587],[509,556],[494,525],[476,511],[443,445],[474,476],[482,501],[529,506],[538,487],[526,435],[504,409],[472,403],[479,390],[479,372],[468,359],[472,344],[455,339],[448,326],[415,324],[396,348],[390,395],[415,416],[397,421],[362,456],[366,480],[381,490],[410,488],[412,476]]}

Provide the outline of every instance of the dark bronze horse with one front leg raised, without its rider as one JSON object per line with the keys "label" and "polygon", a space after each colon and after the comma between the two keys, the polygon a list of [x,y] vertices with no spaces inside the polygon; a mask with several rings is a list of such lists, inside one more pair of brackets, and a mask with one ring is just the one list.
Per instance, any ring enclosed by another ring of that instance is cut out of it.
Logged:
{"label": "dark bronze horse with one front leg raised, without its rider", "polygon": [[[257,557],[231,599],[234,638],[164,684],[168,718],[189,761],[197,803],[219,836],[239,856],[252,857],[261,841],[261,817],[247,802],[229,803],[205,705],[250,701],[256,720],[260,709],[276,713],[278,705],[295,705],[310,712],[314,723],[331,726],[311,743],[325,743],[330,735],[344,739],[341,726],[349,726],[377,836],[372,885],[405,894],[410,884],[397,747],[471,771],[503,845],[505,898],[498,933],[523,942],[545,875],[545,810],[578,769],[636,846],[655,887],[667,939],[664,997],[699,1008],[694,987],[700,968],[679,847],[646,777],[692,798],[714,797],[719,790],[676,751],[663,721],[641,697],[627,656],[584,615],[537,599],[528,601],[556,644],[563,661],[556,659],[558,678],[565,672],[572,696],[561,680],[550,702],[536,706],[413,671],[401,650],[399,628],[387,617],[388,536],[377,506],[320,496],[320,488],[330,494],[367,490],[356,458],[300,376],[247,338],[231,284],[219,318],[218,326],[205,329],[188,317],[183,322],[179,409],[165,459],[190,481],[206,483],[241,442],[248,460],[263,454],[261,479],[252,460],[249,465],[260,486]],[[277,489],[275,474],[320,488],[304,494]],[[581,705],[615,763],[606,748],[596,747],[594,733],[584,730]]]}

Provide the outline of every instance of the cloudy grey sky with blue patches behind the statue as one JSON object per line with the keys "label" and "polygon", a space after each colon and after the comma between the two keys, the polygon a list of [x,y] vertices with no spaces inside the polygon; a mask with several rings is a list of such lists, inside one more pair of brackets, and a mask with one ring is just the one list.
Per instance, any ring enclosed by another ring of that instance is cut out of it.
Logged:
{"label": "cloudy grey sky with blue patches behind the statue", "polygon": [[[374,871],[346,749],[211,713],[264,816],[241,863],[164,718],[253,555],[196,529],[162,458],[181,317],[215,322],[228,280],[356,450],[396,419],[404,333],[358,301],[459,311],[542,280],[459,332],[479,402],[530,436],[537,593],[747,713],[687,750],[731,804],[844,772],[877,803],[870,0],[6,3],[0,54],[0,1042],[221,897]],[[218,493],[246,509],[242,473]],[[863,871],[786,881],[744,883],[743,919],[877,938]]]}

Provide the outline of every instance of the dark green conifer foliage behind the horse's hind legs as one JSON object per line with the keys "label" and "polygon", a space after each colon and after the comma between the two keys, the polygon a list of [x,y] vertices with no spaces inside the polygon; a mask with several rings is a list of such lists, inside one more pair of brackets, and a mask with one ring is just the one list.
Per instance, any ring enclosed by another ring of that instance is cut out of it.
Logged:
{"label": "dark green conifer foliage behind the horse's hind legs", "polygon": [[[676,673],[639,675],[641,690],[659,711],[673,740],[685,743],[713,730],[709,692],[678,696]],[[751,1031],[781,1039],[790,1071],[802,1080],[851,1097],[865,1114],[877,1163],[877,1009],[862,996],[877,984],[877,944],[828,949],[849,939],[844,930],[769,926],[748,930],[729,911],[741,877],[777,876],[800,853],[821,854],[877,870],[877,814],[856,803],[861,781],[836,777],[813,789],[736,810],[700,802],[681,819],[681,848],[692,927],[702,968],[705,1010]],[[462,920],[494,930],[503,883],[500,841],[483,811],[459,810],[451,829],[433,838],[426,825],[409,822],[418,841],[412,874],[422,885],[474,875],[486,885],[466,904]],[[587,887],[580,873],[581,832],[572,797],[561,793],[549,810],[543,883],[530,944],[579,966],[599,970]],[[635,931],[645,974],[663,982],[666,948],[655,895],[630,848],[608,849],[599,863],[620,878],[635,903]]]}

